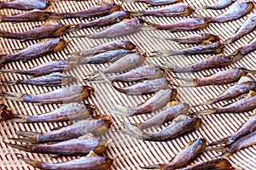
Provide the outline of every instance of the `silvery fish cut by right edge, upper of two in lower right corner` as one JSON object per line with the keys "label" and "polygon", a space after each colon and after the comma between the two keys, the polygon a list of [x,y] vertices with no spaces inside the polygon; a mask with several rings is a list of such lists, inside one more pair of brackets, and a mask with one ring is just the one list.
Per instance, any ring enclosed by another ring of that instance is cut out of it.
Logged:
{"label": "silvery fish cut by right edge, upper of two in lower right corner", "polygon": [[230,136],[219,139],[217,141],[208,144],[208,146],[217,145],[217,144],[232,144],[237,139],[240,139],[242,136],[245,136],[249,133],[253,133],[256,130],[256,116],[253,115],[247,122],[245,122],[241,127],[239,127],[236,133],[231,134]]}

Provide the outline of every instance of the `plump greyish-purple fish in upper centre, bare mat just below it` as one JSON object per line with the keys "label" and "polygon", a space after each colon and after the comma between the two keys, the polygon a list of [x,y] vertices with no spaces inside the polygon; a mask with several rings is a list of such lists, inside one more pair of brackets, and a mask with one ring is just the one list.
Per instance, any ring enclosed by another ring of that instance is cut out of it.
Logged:
{"label": "plump greyish-purple fish in upper centre, bare mat just below it", "polygon": [[92,39],[122,37],[141,31],[143,25],[144,22],[140,19],[134,18],[130,20],[123,20],[117,24],[114,24],[113,26],[109,26],[103,31],[90,34],[88,37]]}

